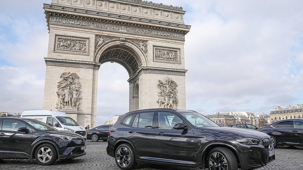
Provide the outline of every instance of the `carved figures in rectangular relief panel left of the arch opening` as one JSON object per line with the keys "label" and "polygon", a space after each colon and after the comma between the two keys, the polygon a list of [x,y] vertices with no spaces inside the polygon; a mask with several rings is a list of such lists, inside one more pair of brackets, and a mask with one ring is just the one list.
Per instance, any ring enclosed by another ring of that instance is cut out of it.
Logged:
{"label": "carved figures in rectangular relief panel left of the arch opening", "polygon": [[71,51],[86,51],[85,41],[76,41],[74,39],[58,38],[57,49],[66,49]]}

